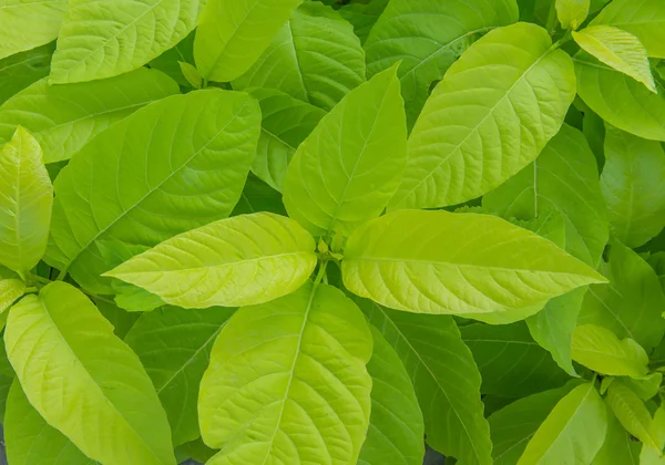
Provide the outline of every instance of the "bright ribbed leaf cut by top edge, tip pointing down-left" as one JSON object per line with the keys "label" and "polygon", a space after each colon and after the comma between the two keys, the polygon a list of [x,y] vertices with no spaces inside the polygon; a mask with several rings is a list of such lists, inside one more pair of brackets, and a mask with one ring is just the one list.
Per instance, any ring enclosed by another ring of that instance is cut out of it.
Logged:
{"label": "bright ribbed leaf cut by top edge, tip pointing down-left", "polygon": [[196,0],[69,0],[51,84],[112,78],[143,66],[196,25]]}

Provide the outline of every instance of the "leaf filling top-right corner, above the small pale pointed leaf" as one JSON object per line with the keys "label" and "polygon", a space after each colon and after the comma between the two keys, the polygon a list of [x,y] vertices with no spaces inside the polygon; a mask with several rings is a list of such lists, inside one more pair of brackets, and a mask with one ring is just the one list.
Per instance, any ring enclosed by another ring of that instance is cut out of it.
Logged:
{"label": "leaf filling top-right corner, above the small pale pointed leaf", "polygon": [[649,56],[665,59],[665,10],[661,0],[613,0],[591,25],[614,25],[637,35]]}

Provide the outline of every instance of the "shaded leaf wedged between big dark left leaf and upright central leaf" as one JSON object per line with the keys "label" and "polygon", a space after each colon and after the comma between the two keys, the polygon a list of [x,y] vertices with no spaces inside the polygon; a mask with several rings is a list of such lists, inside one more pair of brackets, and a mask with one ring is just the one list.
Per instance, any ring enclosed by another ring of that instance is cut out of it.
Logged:
{"label": "shaded leaf wedged between big dark left leaf and upright central leaf", "polygon": [[255,87],[248,92],[258,100],[263,118],[252,172],[282,192],[286,168],[296,148],[326,112],[275,89]]}

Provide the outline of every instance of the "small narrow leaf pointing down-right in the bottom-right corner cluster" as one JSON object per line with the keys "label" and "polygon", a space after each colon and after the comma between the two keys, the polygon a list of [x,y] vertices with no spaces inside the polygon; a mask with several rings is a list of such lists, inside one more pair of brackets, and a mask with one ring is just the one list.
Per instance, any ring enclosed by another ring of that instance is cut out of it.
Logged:
{"label": "small narrow leaf pointing down-right in the bottom-right corner cluster", "polygon": [[607,405],[616,415],[622,426],[649,447],[658,448],[658,438],[653,434],[652,416],[640,396],[620,380],[614,380],[607,388],[605,397]]}

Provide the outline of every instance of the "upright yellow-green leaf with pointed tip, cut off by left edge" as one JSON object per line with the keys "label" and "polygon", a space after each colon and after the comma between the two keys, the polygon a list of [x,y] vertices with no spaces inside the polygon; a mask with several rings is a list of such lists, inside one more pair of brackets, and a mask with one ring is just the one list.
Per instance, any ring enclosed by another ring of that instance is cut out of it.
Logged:
{"label": "upright yellow-green leaf with pointed tip, cut off by left edge", "polygon": [[[0,146],[0,265],[21,276],[47,250],[53,186],[39,143],[23,127]],[[9,182],[9,180],[12,182]]]}

